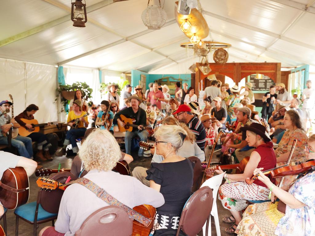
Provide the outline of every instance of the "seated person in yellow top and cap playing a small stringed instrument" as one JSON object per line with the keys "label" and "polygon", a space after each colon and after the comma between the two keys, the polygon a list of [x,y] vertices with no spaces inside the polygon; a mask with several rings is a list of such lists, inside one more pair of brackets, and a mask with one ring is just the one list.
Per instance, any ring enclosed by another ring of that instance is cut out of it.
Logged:
{"label": "seated person in yellow top and cap playing a small stringed instrument", "polygon": [[[76,121],[78,121],[77,128],[74,127],[76,125]],[[56,156],[66,155],[66,148],[70,143],[72,145],[73,153],[77,153],[79,151],[76,139],[84,136],[86,127],[89,125],[87,113],[82,111],[82,102],[80,100],[75,100],[73,102],[72,111],[68,114],[67,123],[71,129],[67,131],[63,148],[56,153]]]}

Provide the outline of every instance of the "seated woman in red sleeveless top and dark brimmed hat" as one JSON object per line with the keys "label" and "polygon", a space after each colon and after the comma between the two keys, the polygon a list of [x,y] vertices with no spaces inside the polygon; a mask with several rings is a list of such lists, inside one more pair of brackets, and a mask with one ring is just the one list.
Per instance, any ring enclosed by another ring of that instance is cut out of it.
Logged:
{"label": "seated woman in red sleeveless top and dark brimmed hat", "polygon": [[[253,176],[255,168],[268,170],[276,167],[276,155],[270,137],[266,134],[265,126],[259,123],[252,123],[248,127],[241,127],[241,131],[246,131],[246,141],[251,147],[255,147],[250,155],[249,161],[243,174],[225,174],[226,182],[219,188],[219,199],[232,216],[224,217],[223,221],[234,223],[226,228],[227,233],[233,233],[238,223],[242,220],[241,210],[248,206],[247,201],[268,200],[269,189],[260,180],[255,180],[253,184],[247,184],[245,179]],[[219,167],[216,171],[221,174],[223,171]],[[271,176],[267,177],[275,183]]]}

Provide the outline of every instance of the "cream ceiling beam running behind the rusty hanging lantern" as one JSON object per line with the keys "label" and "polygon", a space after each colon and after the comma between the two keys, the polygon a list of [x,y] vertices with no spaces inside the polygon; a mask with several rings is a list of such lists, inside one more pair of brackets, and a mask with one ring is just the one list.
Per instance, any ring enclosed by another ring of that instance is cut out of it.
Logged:
{"label": "cream ceiling beam running behind the rusty hanging lantern", "polygon": [[[47,0],[47,1],[52,1],[52,0]],[[55,2],[55,1],[54,1],[54,2]],[[87,8],[86,8],[86,11],[87,11],[87,13],[88,13],[88,12],[91,12],[91,11],[95,11],[95,10],[97,10],[97,9],[99,9],[99,8],[102,8],[102,7],[107,6],[107,5],[109,5],[109,4],[112,4],[112,3],[113,3],[113,0],[104,0],[104,1],[102,1],[102,2],[100,2],[100,3],[96,3],[96,4],[94,4],[94,5],[90,6],[90,7],[87,7]],[[61,6],[61,5],[64,5],[64,4],[61,4],[61,3],[58,4],[57,2],[55,2],[55,4],[58,5],[59,8],[65,10],[65,9]],[[64,17],[61,17],[61,18],[59,18],[59,19],[50,21],[50,22],[48,22],[48,23],[46,23],[46,24],[37,26],[37,27],[35,27],[35,28],[33,28],[33,29],[30,29],[30,30],[28,30],[28,31],[24,31],[24,32],[19,33],[19,34],[17,34],[17,35],[8,37],[8,38],[3,39],[3,40],[0,41],[0,47],[2,47],[2,46],[4,46],[4,45],[7,45],[7,44],[9,44],[9,43],[18,41],[18,40],[20,40],[20,39],[26,38],[26,37],[31,36],[31,35],[33,35],[33,34],[37,34],[37,33],[41,32],[41,31],[44,31],[44,30],[46,30],[46,29],[48,29],[48,28],[51,28],[51,27],[54,27],[54,26],[59,25],[59,24],[61,24],[61,23],[64,23],[64,22],[66,22],[66,21],[68,21],[68,20],[70,20],[70,19],[71,19],[71,18],[70,18],[70,14],[69,14],[69,15],[66,15],[66,16],[64,16]]]}

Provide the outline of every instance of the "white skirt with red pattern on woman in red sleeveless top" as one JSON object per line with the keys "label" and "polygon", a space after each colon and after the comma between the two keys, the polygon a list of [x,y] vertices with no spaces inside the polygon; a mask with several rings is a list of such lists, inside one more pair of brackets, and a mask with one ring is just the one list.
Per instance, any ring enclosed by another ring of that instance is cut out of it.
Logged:
{"label": "white skirt with red pattern on woman in red sleeveless top", "polygon": [[250,200],[268,200],[269,189],[244,181],[229,180],[219,188],[219,199],[225,209],[241,211],[248,206]]}

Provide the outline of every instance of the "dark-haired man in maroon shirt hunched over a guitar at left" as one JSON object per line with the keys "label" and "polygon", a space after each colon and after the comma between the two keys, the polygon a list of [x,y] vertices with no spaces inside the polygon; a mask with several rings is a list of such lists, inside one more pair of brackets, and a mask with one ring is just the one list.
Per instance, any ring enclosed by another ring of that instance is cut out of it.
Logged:
{"label": "dark-haired man in maroon shirt hunched over a guitar at left", "polygon": [[[26,124],[21,120],[21,118],[33,120],[34,114],[37,112],[37,110],[39,110],[38,106],[36,106],[35,104],[31,104],[26,107],[26,109],[22,113],[17,115],[15,119],[21,126],[24,126],[27,129],[32,129],[32,125]],[[33,142],[37,142],[37,158],[39,158],[40,160],[53,160],[53,158],[49,154],[49,147],[51,146],[51,144],[49,143],[49,140],[45,134],[40,132],[33,132],[27,137],[31,138]]]}

